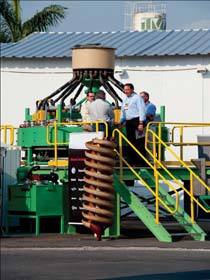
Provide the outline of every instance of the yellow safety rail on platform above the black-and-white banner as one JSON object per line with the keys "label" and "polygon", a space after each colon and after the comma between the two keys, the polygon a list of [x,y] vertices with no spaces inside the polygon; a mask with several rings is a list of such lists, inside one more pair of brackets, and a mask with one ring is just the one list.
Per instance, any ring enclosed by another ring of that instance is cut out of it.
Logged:
{"label": "yellow safety rail on platform above the black-and-white banner", "polygon": [[[61,122],[61,123],[57,123],[57,122],[54,122],[54,123],[49,123],[47,125],[47,130],[46,130],[46,142],[48,145],[53,145],[54,146],[54,160],[53,161],[50,161],[48,163],[48,165],[50,166],[68,166],[68,160],[58,160],[58,146],[59,145],[67,145],[69,144],[69,141],[68,142],[59,142],[58,141],[58,129],[61,128],[61,127],[67,127],[67,126],[82,126],[84,124],[95,124],[96,125],[96,132],[99,131],[99,124],[104,124],[105,125],[105,137],[108,136],[108,124],[107,122],[105,121],[90,121],[90,122],[73,122],[73,121],[70,121],[70,122]],[[49,130],[50,130],[50,127],[53,127],[54,128],[54,142],[50,142],[49,140]]]}

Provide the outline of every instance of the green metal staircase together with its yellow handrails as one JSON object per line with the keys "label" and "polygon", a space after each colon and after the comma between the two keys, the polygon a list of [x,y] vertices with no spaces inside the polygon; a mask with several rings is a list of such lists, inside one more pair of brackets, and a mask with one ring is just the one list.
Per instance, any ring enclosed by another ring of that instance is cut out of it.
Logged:
{"label": "green metal staircase together with its yellow handrails", "polygon": [[[119,138],[122,137],[122,139],[126,141],[126,138],[124,135],[121,135],[121,132],[118,132],[118,134]],[[158,138],[156,134],[154,137]],[[160,138],[158,138],[158,141],[164,146],[165,149],[169,149]],[[130,145],[131,143],[128,141],[128,144]],[[194,204],[197,204],[202,209],[205,207],[203,207],[203,205],[199,203],[199,200],[193,196],[192,189],[187,190],[185,186],[182,185],[182,183],[179,182],[178,184],[180,188],[184,190],[184,192],[190,197],[192,207],[191,216],[189,216],[188,213],[186,213],[186,211],[179,205],[178,197],[176,196],[176,199],[174,199],[171,196],[170,191],[166,190],[164,184],[161,183],[162,180],[164,183],[166,183],[166,185],[169,186],[169,189],[173,189],[174,187],[170,186],[170,181],[175,180],[175,182],[178,183],[180,178],[176,178],[176,175],[174,176],[173,172],[171,173],[167,166],[162,164],[161,161],[158,161],[156,158],[154,158],[154,161],[156,161],[157,165],[153,166],[148,163],[147,159],[144,158],[134,146],[132,146],[132,148],[139,154],[141,158],[143,158],[143,160],[145,160],[147,166],[149,164],[149,167],[143,167],[139,169],[132,168],[123,158],[122,154],[117,152],[120,159],[120,168],[116,169],[114,174],[116,193],[124,200],[129,208],[143,222],[146,228],[148,228],[159,241],[171,242],[184,236],[190,236],[192,239],[197,241],[205,241],[207,234],[194,221],[193,210]],[[176,155],[175,157],[176,159],[178,158]],[[204,186],[204,188],[210,190],[209,186],[207,186],[188,166],[186,166],[181,159],[179,164],[181,166],[180,169],[186,169],[185,174],[187,174],[191,187],[193,178],[196,178]],[[150,209],[144,204],[145,199],[143,197],[139,197],[137,194],[132,192],[131,188],[126,185],[127,180],[140,180],[143,186],[145,186],[145,188],[150,191],[152,197],[150,202],[152,200],[154,201],[155,213],[152,213],[153,211],[150,211]],[[175,190],[174,192],[176,193],[177,191]],[[168,212],[167,217],[170,217],[168,221],[161,221],[159,217],[160,207],[165,208]],[[207,213],[210,213],[209,208],[205,208],[204,210],[207,210]],[[179,231],[177,231],[178,227],[180,228]]]}

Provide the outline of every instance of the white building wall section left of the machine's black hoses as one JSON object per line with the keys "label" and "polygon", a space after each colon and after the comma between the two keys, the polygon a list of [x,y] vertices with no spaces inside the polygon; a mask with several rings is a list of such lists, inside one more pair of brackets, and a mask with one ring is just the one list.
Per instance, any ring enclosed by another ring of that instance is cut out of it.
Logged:
{"label": "white building wall section left of the machine's black hoses", "polygon": [[1,73],[1,123],[19,125],[25,108],[35,111],[43,99],[71,79],[67,60],[6,59]]}

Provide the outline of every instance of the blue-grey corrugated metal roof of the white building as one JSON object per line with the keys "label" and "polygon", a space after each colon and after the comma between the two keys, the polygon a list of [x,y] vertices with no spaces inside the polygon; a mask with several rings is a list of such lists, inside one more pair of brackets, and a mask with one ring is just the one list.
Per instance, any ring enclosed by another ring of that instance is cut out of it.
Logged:
{"label": "blue-grey corrugated metal roof of the white building", "polygon": [[1,44],[2,57],[71,57],[75,45],[101,44],[116,48],[116,56],[210,54],[210,29],[116,32],[37,32]]}

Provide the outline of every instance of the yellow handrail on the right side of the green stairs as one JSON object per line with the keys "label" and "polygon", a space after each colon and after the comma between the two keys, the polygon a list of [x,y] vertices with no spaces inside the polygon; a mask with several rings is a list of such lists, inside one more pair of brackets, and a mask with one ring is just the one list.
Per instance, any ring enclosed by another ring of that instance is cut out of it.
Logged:
{"label": "yellow handrail on the right side of the green stairs", "polygon": [[[150,151],[148,149],[148,135],[151,133],[152,135],[152,143],[153,143],[153,150]],[[154,160],[154,166],[157,166],[158,168],[162,168],[170,177],[172,180],[174,180],[183,190],[185,193],[187,193],[190,196],[190,201],[191,201],[191,221],[195,222],[195,215],[194,215],[194,203],[196,203],[203,211],[206,213],[210,213],[210,210],[207,210],[203,205],[194,197],[193,195],[193,178],[195,178],[207,191],[210,191],[210,187],[205,184],[205,182],[197,176],[188,166],[187,164],[177,156],[177,154],[165,143],[161,140],[161,138],[154,133],[154,131],[148,129],[146,130],[146,135],[145,135],[146,143],[145,143],[145,148],[146,151],[149,153],[149,155],[153,158]],[[163,146],[172,156],[175,157],[175,159],[181,164],[182,168],[185,168],[186,170],[189,171],[190,175],[190,191],[188,191],[180,182],[177,180],[173,174],[167,169],[167,167],[162,163],[157,157],[157,145]]]}

